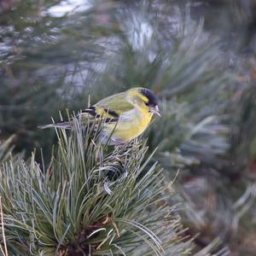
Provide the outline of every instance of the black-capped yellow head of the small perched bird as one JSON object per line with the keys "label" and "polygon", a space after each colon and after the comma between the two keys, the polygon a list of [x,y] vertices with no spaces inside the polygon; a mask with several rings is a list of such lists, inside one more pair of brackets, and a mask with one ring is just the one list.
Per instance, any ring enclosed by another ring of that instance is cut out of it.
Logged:
{"label": "black-capped yellow head of the small perched bird", "polygon": [[157,98],[152,90],[143,87],[128,90],[129,101],[137,108],[160,116]]}

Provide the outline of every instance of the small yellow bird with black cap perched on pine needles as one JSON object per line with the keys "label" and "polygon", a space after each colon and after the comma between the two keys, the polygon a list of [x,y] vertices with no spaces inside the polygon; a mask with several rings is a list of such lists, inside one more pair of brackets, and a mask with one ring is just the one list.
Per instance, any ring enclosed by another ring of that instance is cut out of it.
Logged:
{"label": "small yellow bird with black cap perched on pine needles", "polygon": [[[93,119],[106,119],[100,134],[100,143],[118,145],[129,143],[141,135],[148,128],[154,114],[160,116],[158,100],[154,92],[147,88],[136,87],[103,98],[82,110],[77,119],[81,123],[92,122]],[[73,125],[71,119],[67,122],[41,125],[39,128],[71,129]]]}

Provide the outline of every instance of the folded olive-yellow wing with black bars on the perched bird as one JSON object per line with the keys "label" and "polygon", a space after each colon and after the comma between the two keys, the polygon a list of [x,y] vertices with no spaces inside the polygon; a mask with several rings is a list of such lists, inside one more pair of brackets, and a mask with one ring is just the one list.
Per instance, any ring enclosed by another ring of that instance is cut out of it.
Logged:
{"label": "folded olive-yellow wing with black bars on the perched bird", "polygon": [[108,119],[117,120],[119,116],[134,108],[131,103],[127,102],[124,93],[119,93],[113,96],[108,96],[97,102],[90,108],[82,111],[82,119],[91,117],[104,117]]}

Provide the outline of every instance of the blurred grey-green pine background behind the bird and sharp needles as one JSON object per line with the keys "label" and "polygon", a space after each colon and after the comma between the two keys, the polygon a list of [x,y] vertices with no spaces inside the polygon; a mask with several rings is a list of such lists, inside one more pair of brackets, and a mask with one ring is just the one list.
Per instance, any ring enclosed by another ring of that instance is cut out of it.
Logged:
{"label": "blurred grey-green pine background behind the bird and sharp needles", "polygon": [[148,87],[162,118],[143,137],[177,175],[188,235],[255,255],[255,54],[254,0],[1,0],[0,143],[47,161],[55,131],[38,125]]}

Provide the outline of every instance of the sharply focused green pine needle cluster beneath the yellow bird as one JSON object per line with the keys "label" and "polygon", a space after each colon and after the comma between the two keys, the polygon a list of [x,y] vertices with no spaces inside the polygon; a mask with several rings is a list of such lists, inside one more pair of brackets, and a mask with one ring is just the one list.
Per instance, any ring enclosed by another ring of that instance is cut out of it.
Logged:
{"label": "sharply focused green pine needle cluster beneath the yellow bird", "polygon": [[93,128],[57,131],[49,166],[32,155],[1,167],[10,255],[188,254],[175,206],[166,204],[170,185],[157,164],[145,172],[147,148],[138,141],[108,149]]}

